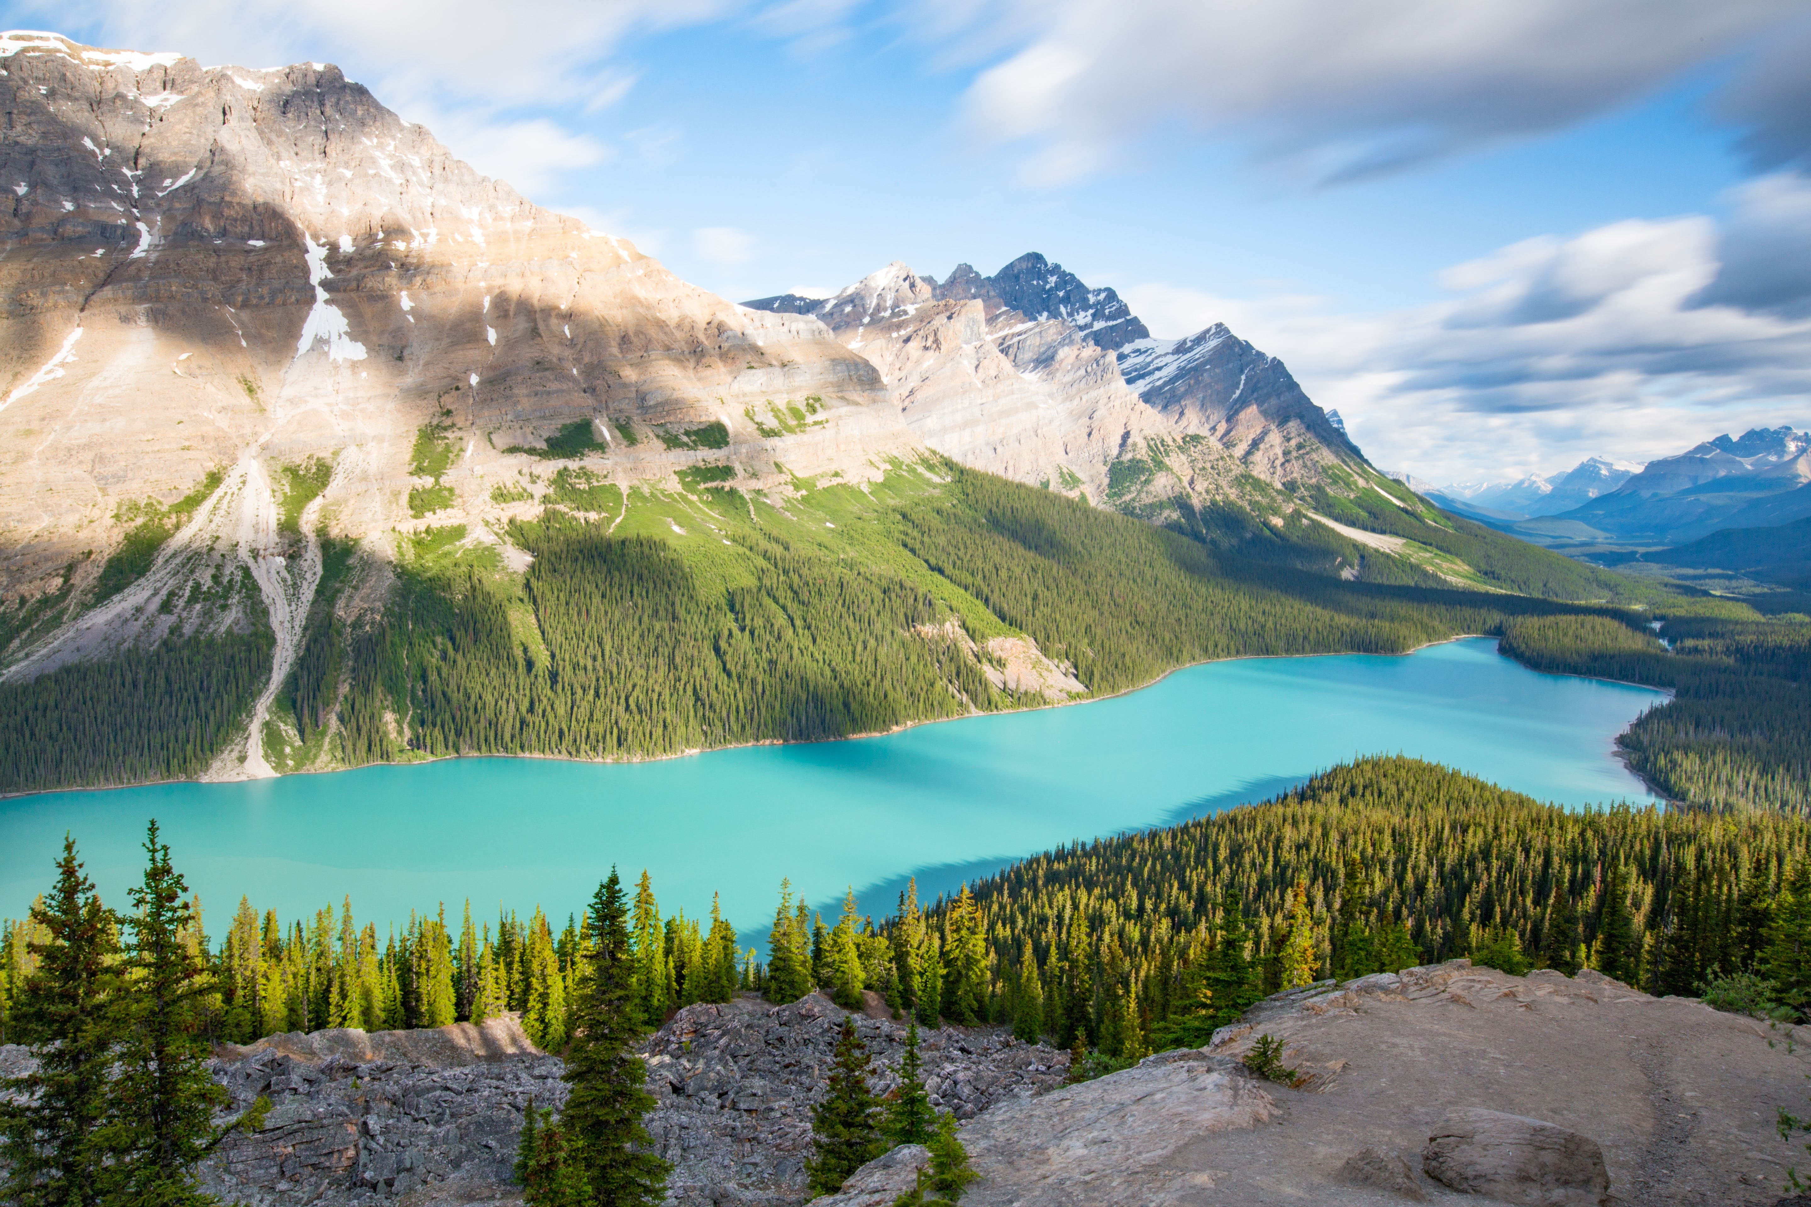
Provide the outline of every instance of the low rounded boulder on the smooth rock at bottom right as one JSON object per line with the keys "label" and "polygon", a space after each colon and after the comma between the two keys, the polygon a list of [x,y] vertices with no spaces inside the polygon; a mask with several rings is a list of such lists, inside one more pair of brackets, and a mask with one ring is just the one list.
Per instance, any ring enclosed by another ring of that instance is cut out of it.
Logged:
{"label": "low rounded boulder on the smooth rock at bottom right", "polygon": [[1422,1151],[1429,1178],[1519,1207],[1606,1207],[1610,1174],[1590,1136],[1501,1111],[1460,1111]]}

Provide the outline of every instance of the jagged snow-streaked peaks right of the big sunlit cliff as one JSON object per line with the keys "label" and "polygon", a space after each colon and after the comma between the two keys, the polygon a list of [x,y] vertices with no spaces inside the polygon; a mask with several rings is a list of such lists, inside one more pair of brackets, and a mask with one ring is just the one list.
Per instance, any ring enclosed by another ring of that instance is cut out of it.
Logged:
{"label": "jagged snow-streaked peaks right of the big sunlit cliff", "polygon": [[1275,356],[1224,324],[1154,340],[1117,293],[1036,252],[991,277],[895,262],[831,299],[744,306],[826,322],[933,449],[1159,523],[1376,478]]}

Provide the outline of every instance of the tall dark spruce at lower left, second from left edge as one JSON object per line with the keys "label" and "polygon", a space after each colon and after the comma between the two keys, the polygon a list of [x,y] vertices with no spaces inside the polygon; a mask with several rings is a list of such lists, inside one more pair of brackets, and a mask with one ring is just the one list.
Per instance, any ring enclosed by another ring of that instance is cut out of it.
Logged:
{"label": "tall dark spruce at lower left, second from left edge", "polygon": [[205,1015],[214,990],[201,965],[205,937],[156,822],[145,852],[145,881],[130,892],[127,919],[132,943],[110,1091],[118,1147],[112,1176],[120,1202],[199,1207],[216,1200],[197,1189],[196,1165],[243,1122],[263,1118],[270,1104],[259,1100],[228,1126],[214,1126],[216,1111],[232,1098],[206,1066],[212,1048]]}

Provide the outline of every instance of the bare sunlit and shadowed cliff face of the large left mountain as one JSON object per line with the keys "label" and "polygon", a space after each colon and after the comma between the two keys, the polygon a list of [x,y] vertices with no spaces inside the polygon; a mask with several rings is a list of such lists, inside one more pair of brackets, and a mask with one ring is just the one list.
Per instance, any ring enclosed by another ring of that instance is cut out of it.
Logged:
{"label": "bare sunlit and shadowed cliff face of the large left mountain", "polygon": [[[775,461],[860,480],[922,447],[817,318],[744,309],[527,203],[331,65],[201,67],[13,33],[0,69],[7,603],[80,599],[132,516],[210,470],[159,565],[201,541],[275,612],[306,608],[315,527],[375,550],[426,523],[476,532],[500,516],[496,485],[545,465],[509,449],[572,423],[589,423],[587,465],[623,485],[697,461],[746,485],[786,481]],[[806,398],[810,423],[755,418]],[[431,422],[449,494],[422,516],[411,449]],[[726,443],[686,434],[712,423]],[[281,499],[310,460],[331,480],[297,525]],[[228,623],[147,608],[143,588],[121,599],[114,637]]]}

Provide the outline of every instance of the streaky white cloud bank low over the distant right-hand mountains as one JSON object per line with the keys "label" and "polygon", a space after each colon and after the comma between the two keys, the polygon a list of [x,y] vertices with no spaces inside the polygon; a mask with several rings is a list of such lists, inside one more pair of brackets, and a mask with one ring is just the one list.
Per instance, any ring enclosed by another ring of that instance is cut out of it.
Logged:
{"label": "streaky white cloud bank low over the distant right-hand mountains", "polygon": [[[1777,299],[1780,275],[1731,252],[1806,192],[1800,177],[1746,186],[1724,232],[1691,215],[1523,241],[1442,273],[1440,302],[1389,313],[1161,284],[1125,295],[1163,335],[1226,322],[1280,356],[1391,469],[1460,481],[1650,460],[1724,431],[1811,425],[1811,318],[1744,304]],[[1811,215],[1797,230],[1811,246]]]}

